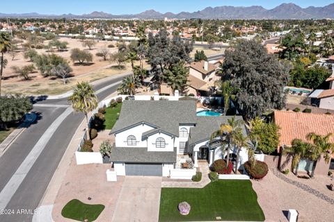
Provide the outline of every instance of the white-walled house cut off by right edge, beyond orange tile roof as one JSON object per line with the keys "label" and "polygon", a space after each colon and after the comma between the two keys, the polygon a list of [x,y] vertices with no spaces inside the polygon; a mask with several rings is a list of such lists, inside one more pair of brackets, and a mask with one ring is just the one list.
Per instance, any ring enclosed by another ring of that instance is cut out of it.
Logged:
{"label": "white-walled house cut off by right edge, beyond orange tile roof", "polygon": [[319,108],[334,110],[334,71],[326,82],[329,83],[329,89],[315,89],[308,97],[311,98],[312,104],[318,105]]}

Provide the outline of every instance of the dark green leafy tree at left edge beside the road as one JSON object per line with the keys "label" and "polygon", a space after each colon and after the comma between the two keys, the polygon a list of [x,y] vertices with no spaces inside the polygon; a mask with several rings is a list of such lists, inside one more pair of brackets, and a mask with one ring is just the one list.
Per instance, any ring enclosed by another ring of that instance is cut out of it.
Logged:
{"label": "dark green leafy tree at left edge beside the road", "polygon": [[0,96],[0,128],[6,129],[8,123],[19,121],[24,114],[33,109],[28,96],[19,94]]}

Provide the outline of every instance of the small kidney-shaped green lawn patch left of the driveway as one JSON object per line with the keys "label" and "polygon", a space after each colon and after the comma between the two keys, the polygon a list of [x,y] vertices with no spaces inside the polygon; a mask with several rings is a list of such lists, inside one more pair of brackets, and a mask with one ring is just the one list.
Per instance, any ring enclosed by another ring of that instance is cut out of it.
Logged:
{"label": "small kidney-shaped green lawn patch left of the driveway", "polygon": [[104,205],[90,205],[82,203],[80,200],[73,199],[65,205],[63,210],[61,210],[61,215],[65,218],[77,221],[84,221],[85,219],[88,219],[88,221],[95,221],[102,210],[104,210]]}

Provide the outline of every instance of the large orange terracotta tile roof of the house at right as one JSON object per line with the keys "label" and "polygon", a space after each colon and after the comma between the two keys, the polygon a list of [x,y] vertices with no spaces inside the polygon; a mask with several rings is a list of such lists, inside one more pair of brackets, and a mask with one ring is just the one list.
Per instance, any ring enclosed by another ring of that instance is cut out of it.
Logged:
{"label": "large orange terracotta tile roof of the house at right", "polygon": [[[334,133],[334,115],[292,111],[275,111],[274,119],[280,127],[280,146],[291,145],[293,139],[303,139],[308,133]],[[334,142],[334,137],[331,137]]]}

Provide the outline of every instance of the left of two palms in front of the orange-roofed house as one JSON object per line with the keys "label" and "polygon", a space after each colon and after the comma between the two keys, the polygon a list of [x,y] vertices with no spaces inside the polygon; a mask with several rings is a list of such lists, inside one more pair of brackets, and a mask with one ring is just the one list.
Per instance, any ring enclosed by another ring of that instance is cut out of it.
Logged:
{"label": "left of two palms in front of the orange-roofed house", "polygon": [[312,150],[312,144],[303,142],[301,139],[292,140],[292,146],[287,146],[283,150],[283,155],[287,155],[288,159],[292,158],[292,169],[295,169],[296,175],[298,175],[298,167],[301,158],[309,158],[310,151]]}

